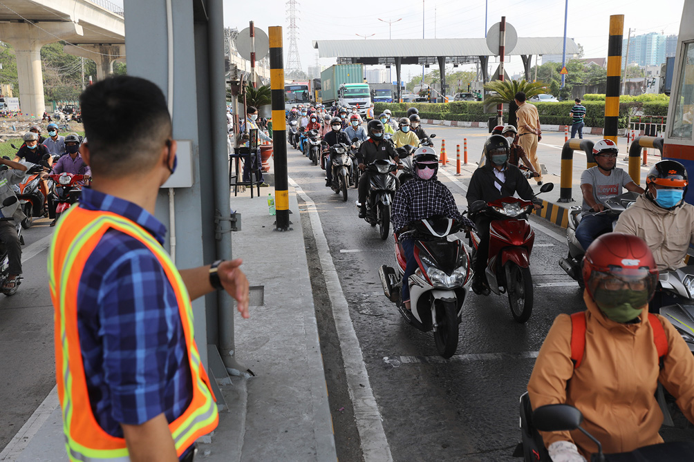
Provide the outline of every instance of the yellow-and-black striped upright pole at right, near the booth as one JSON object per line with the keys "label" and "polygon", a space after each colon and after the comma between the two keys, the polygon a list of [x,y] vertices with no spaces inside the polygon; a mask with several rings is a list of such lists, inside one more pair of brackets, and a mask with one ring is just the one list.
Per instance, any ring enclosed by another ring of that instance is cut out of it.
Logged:
{"label": "yellow-and-black striped upright pole at right, near the booth", "polygon": [[609,17],[607,45],[607,89],[605,90],[605,126],[603,136],[617,143],[619,128],[619,92],[622,79],[622,38],[624,15]]}

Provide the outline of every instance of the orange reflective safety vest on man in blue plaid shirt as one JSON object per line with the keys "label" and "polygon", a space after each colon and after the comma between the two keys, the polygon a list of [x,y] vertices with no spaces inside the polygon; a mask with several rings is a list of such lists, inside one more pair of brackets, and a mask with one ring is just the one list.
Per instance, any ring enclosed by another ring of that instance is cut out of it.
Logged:
{"label": "orange reflective safety vest on man in blue plaid shirt", "polygon": [[130,460],[126,440],[107,434],[94,418],[77,330],[80,278],[92,250],[109,229],[124,232],[149,248],[176,293],[193,384],[187,409],[169,423],[176,453],[181,456],[197,438],[217,427],[219,421],[210,379],[194,340],[193,312],[185,284],[160,243],[140,225],[118,214],[82,207],[70,207],[58,222],[48,260],[51,300],[55,307],[56,381],[67,455],[71,461]]}

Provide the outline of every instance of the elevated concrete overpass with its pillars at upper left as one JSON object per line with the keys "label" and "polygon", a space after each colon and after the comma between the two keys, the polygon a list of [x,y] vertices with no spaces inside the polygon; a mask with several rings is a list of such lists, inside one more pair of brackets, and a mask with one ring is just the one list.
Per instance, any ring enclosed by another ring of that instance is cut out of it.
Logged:
{"label": "elevated concrete overpass with its pillars at upper left", "polygon": [[96,78],[125,58],[123,10],[108,0],[0,0],[0,40],[17,55],[24,114],[45,110],[41,47],[64,40],[65,51],[96,62]]}

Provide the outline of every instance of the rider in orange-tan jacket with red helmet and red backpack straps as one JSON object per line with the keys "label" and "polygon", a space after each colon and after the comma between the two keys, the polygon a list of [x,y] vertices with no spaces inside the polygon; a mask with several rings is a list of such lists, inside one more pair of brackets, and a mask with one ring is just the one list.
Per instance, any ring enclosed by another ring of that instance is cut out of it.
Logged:
{"label": "rider in orange-tan jacket with red helmet and red backpack straps", "polygon": [[[694,357],[670,322],[648,313],[658,268],[636,236],[595,239],[583,263],[586,311],[560,314],[527,385],[533,409],[570,404],[602,450],[662,443],[658,382],[694,422]],[[541,432],[553,462],[584,462],[597,446],[581,431]]]}

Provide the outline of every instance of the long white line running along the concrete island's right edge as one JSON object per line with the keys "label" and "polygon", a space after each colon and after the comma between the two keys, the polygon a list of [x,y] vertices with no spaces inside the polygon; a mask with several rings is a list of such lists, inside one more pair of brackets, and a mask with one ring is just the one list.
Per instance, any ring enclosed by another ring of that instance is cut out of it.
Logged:
{"label": "long white line running along the concrete island's right edge", "polygon": [[316,204],[310,196],[305,194],[303,189],[291,178],[289,178],[289,184],[294,187],[296,194],[305,201],[311,218],[311,227],[316,239],[316,249],[318,250],[321,267],[323,268],[325,287],[330,295],[332,316],[335,317],[335,327],[340,341],[342,359],[345,364],[347,387],[354,406],[359,438],[362,440],[364,461],[392,461],[393,456],[390,452],[386,434],[383,431],[381,414],[378,411],[378,404],[376,404],[373,391],[371,390],[369,374],[366,373],[364,354],[359,346],[359,339],[357,339],[352,318],[349,314],[347,299],[342,291],[335,264],[330,256],[330,248],[328,248],[328,240],[325,239],[325,234],[323,233],[321,217],[316,209]]}

